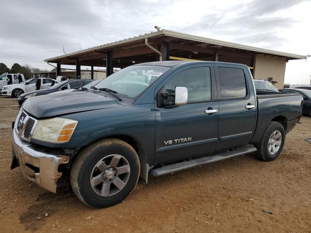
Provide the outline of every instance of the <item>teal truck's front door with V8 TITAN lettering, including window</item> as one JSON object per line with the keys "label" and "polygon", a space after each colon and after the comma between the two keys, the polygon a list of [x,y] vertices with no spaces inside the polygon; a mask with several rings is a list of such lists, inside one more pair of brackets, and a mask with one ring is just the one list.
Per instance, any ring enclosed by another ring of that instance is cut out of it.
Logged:
{"label": "teal truck's front door with V8 TITAN lettering, including window", "polygon": [[188,88],[188,103],[155,107],[155,164],[193,158],[216,149],[218,113],[205,112],[218,110],[213,67],[182,67],[158,86],[155,93],[163,90],[173,93],[176,86]]}

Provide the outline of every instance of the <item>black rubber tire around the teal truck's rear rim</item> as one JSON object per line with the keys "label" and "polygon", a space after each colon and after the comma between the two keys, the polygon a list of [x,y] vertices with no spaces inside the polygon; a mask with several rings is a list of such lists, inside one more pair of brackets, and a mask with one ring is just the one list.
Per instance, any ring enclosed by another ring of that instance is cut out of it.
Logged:
{"label": "black rubber tire around the teal truck's rear rim", "polygon": [[[281,144],[279,145],[278,150],[273,154],[269,150],[269,140],[270,140],[270,137],[273,135],[273,133],[276,131],[281,133],[282,139],[281,139]],[[275,160],[283,149],[284,142],[285,142],[285,136],[286,136],[286,133],[285,133],[283,125],[275,121],[271,122],[269,126],[267,127],[266,131],[264,132],[261,142],[258,145],[255,145],[256,148],[258,149],[257,156],[259,157],[259,159],[263,161]]]}

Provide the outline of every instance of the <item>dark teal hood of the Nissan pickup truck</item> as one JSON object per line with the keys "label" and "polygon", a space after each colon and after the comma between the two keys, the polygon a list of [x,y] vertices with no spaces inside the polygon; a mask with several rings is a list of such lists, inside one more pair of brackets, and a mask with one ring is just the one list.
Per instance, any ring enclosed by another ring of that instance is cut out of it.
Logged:
{"label": "dark teal hood of the Nissan pickup truck", "polygon": [[84,91],[58,91],[27,99],[22,108],[37,118],[43,118],[119,106],[123,105],[104,95]]}

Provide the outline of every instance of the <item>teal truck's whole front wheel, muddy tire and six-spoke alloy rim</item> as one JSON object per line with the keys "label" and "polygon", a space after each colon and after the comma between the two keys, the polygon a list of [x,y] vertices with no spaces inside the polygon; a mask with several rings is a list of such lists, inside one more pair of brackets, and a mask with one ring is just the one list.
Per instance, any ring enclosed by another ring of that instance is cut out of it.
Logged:
{"label": "teal truck's whole front wheel, muddy tire and six-spoke alloy rim", "polygon": [[82,150],[70,171],[76,196],[101,208],[121,202],[135,188],[140,164],[137,152],[119,139],[104,139]]}

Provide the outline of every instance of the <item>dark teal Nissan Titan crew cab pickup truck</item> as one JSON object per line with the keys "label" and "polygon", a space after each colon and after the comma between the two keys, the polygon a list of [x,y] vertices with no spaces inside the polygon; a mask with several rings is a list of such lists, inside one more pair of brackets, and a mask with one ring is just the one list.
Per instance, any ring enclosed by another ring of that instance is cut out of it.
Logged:
{"label": "dark teal Nissan Titan crew cab pickup truck", "polygon": [[149,174],[253,152],[276,159],[302,102],[297,94],[256,92],[245,65],[139,64],[90,90],[26,100],[13,124],[11,168],[52,192],[69,169],[77,197],[107,207]]}

